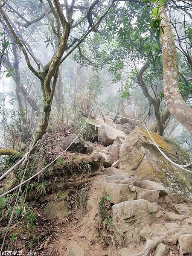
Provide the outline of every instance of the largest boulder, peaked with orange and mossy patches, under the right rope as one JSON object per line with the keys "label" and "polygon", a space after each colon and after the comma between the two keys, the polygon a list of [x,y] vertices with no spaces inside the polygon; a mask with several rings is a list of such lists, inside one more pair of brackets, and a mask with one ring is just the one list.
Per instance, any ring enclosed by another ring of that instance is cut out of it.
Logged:
{"label": "largest boulder, peaked with orange and mossy patches, under the right rope", "polygon": [[[172,140],[151,132],[154,141],[175,163],[186,164],[189,156]],[[147,131],[135,128],[120,148],[119,169],[138,179],[146,179],[163,184],[168,192],[192,198],[192,179],[189,172],[173,165],[151,142]]]}

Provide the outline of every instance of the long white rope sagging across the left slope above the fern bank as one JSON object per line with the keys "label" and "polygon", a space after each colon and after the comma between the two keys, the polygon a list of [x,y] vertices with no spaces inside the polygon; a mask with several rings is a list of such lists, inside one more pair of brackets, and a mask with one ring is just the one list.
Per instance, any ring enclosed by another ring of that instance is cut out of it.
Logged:
{"label": "long white rope sagging across the left slope above the fern bank", "polygon": [[[93,108],[92,108],[92,109],[93,109]],[[91,109],[91,111],[92,111],[92,109]],[[90,111],[90,113],[91,113],[91,111]],[[90,117],[90,113],[89,113],[89,116],[87,117],[87,120],[88,120],[89,117]],[[83,129],[84,129],[86,123],[87,123],[87,120],[85,121],[83,127],[81,128],[81,131],[83,131]],[[43,172],[45,169],[47,169],[50,165],[52,165],[52,163],[54,163],[59,157],[61,157],[61,155],[62,155],[65,151],[67,151],[68,148],[70,148],[70,146],[73,144],[73,142],[74,142],[74,141],[77,139],[77,137],[81,134],[81,131],[79,132],[79,134],[77,134],[77,136],[76,136],[75,139],[72,141],[72,143],[70,143],[70,145],[69,145],[60,155],[58,155],[58,157],[56,157],[51,163],[49,163],[47,166],[45,166],[44,168],[42,168],[39,172],[35,173],[33,176],[29,177],[29,179],[27,179],[27,180],[21,182],[19,185],[15,186],[14,188],[12,188],[12,189],[10,189],[9,191],[7,191],[7,192],[3,193],[2,195],[0,195],[0,198],[3,197],[3,196],[5,196],[5,195],[7,195],[7,194],[9,194],[9,193],[12,192],[13,190],[19,188],[20,186],[22,186],[23,184],[25,184],[25,183],[28,182],[29,180],[32,180],[32,178],[34,178],[35,176],[37,176],[38,174],[40,174],[41,172]]]}

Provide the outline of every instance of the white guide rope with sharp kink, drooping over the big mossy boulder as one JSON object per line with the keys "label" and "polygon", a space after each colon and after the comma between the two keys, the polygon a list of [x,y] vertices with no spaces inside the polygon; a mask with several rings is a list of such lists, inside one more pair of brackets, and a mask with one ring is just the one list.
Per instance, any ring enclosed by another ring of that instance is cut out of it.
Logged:
{"label": "white guide rope with sharp kink, drooping over the big mossy boulder", "polygon": [[[95,104],[95,105],[96,105],[96,104]],[[104,111],[107,111],[108,113],[111,113],[111,114],[113,114],[113,115],[115,115],[115,116],[119,116],[119,115],[117,115],[117,114],[115,114],[115,113],[113,113],[113,112],[110,112],[110,111],[108,111],[108,110],[106,110],[106,109],[100,107],[99,105],[96,105],[96,106],[97,106],[98,108],[101,108],[101,109],[104,110]],[[160,149],[159,145],[154,141],[154,138],[151,136],[150,132],[148,131],[148,128],[147,128],[147,126],[145,125],[145,122],[144,122],[143,120],[141,121],[141,120],[137,120],[137,119],[131,119],[131,118],[128,118],[128,117],[125,117],[125,116],[120,116],[120,117],[125,118],[125,119],[128,119],[128,120],[133,120],[133,121],[137,121],[137,122],[142,122],[143,125],[144,125],[144,127],[145,127],[145,129],[146,129],[146,131],[148,132],[148,134],[149,134],[149,136],[150,136],[150,138],[151,138],[152,143],[153,143],[153,144],[156,146],[156,148],[160,151],[160,153],[163,155],[163,157],[165,157],[166,160],[168,160],[170,163],[174,164],[175,166],[179,167],[180,169],[183,169],[183,170],[185,170],[186,172],[192,173],[191,171],[189,171],[188,169],[185,168],[185,167],[191,166],[192,163],[185,164],[185,165],[177,164],[177,163],[173,162],[173,161]]]}

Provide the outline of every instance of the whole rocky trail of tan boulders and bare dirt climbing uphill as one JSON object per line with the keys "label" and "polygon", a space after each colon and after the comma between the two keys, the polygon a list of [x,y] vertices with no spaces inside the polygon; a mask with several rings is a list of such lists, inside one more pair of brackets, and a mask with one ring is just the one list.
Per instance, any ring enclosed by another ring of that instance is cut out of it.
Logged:
{"label": "whole rocky trail of tan boulders and bare dirt climbing uphill", "polygon": [[[143,128],[130,128],[109,122],[98,127],[99,143],[81,138],[72,145],[89,152],[98,174],[89,180],[84,213],[61,228],[50,255],[192,255],[190,174],[163,159]],[[183,149],[152,134],[172,160],[187,163]]]}

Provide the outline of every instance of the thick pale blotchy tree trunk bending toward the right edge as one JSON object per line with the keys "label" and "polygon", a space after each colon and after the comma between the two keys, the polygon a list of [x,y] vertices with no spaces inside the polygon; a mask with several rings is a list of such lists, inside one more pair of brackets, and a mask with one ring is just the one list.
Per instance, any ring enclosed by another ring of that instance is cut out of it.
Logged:
{"label": "thick pale blotchy tree trunk bending toward the right edge", "polygon": [[166,106],[172,116],[177,119],[192,135],[192,109],[184,102],[178,87],[177,54],[169,18],[163,6],[160,9],[162,18],[160,25],[161,46],[163,55],[163,87]]}

